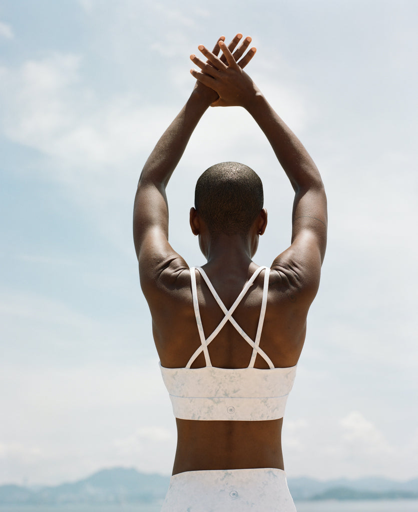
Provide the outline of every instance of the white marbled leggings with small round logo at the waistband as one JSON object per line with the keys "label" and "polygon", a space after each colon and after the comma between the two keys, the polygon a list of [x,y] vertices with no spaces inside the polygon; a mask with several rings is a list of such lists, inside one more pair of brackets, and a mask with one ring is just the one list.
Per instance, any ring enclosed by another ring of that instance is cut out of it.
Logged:
{"label": "white marbled leggings with small round logo at the waistband", "polygon": [[296,512],[286,473],[271,467],[173,475],[161,512]]}

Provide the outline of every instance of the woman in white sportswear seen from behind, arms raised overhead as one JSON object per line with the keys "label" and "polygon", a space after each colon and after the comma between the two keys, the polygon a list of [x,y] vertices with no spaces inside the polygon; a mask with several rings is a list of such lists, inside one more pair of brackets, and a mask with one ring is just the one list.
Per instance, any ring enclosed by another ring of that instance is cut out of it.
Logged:
{"label": "woman in white sportswear seen from behind, arms raised overhead", "polygon": [[[241,37],[229,47],[221,37],[213,52],[200,46],[206,62],[191,55],[196,86],[148,158],[135,197],[141,286],[177,423],[165,512],[295,510],[281,430],[319,286],[326,196],[304,146],[243,71],[255,53],[251,38],[232,54]],[[291,245],[270,268],[252,261],[267,226],[262,184],[236,162],[210,167],[196,184],[190,226],[207,264],[189,268],[168,242],[166,186],[211,104],[245,108],[293,186]]]}

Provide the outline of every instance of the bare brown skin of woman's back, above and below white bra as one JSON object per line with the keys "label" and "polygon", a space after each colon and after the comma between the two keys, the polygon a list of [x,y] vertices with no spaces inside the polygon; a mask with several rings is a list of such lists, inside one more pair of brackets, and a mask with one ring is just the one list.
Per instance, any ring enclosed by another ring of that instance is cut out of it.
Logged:
{"label": "bare brown skin of woman's back, above and below white bra", "polygon": [[[215,274],[208,265],[204,268],[222,302],[229,309],[256,265],[252,263],[245,274],[233,268],[225,268],[224,272]],[[196,281],[202,324],[205,335],[209,336],[225,314],[198,273]],[[263,276],[258,275],[233,313],[237,324],[251,339],[255,338],[260,317],[263,282]],[[276,368],[295,366],[303,347],[307,308],[305,301],[297,300],[300,294],[300,290],[289,287],[289,279],[284,279],[275,270],[270,272],[260,348],[266,352]],[[150,304],[158,355],[163,367],[184,368],[194,351],[201,346],[193,310],[190,270],[184,269],[177,275],[175,286],[166,288],[164,295],[165,300],[161,296],[155,309]],[[220,368],[245,368],[252,355],[252,347],[229,322],[210,343],[208,351],[212,365]],[[191,367],[204,366],[205,358],[201,353]],[[268,368],[260,355],[257,355],[254,367]],[[178,438],[173,474],[219,468],[283,469],[283,419],[176,421]]]}

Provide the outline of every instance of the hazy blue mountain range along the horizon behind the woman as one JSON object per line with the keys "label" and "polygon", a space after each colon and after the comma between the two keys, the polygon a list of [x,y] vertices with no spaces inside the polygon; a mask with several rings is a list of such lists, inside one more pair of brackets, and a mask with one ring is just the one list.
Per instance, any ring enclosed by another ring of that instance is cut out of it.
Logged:
{"label": "hazy blue mountain range along the horizon behind the woman", "polygon": [[[134,468],[114,467],[72,483],[29,488],[0,485],[0,505],[63,503],[162,502],[170,478],[140,473]],[[295,500],[418,499],[418,479],[396,482],[384,478],[339,479],[289,478]]]}

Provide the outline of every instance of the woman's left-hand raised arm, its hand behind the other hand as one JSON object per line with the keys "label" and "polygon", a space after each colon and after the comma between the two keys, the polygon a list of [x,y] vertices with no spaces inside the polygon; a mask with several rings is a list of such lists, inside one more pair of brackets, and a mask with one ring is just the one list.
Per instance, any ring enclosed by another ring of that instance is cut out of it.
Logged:
{"label": "woman's left-hand raised arm, its hand behind the other hand", "polygon": [[[234,37],[229,45],[231,51],[234,51],[241,38],[242,34]],[[216,42],[212,55],[217,54],[218,42],[223,42],[223,39],[221,37]],[[250,41],[251,38],[246,38],[231,56],[234,62],[243,57],[239,61],[242,67],[254,54],[250,50],[244,55]],[[225,66],[224,63],[222,65]],[[142,170],[134,202],[133,238],[143,285],[155,283],[161,272],[170,265],[187,267],[168,243],[166,187],[198,121],[217,98],[212,89],[196,82],[185,106],[157,142]]]}

